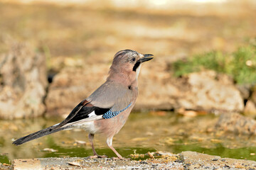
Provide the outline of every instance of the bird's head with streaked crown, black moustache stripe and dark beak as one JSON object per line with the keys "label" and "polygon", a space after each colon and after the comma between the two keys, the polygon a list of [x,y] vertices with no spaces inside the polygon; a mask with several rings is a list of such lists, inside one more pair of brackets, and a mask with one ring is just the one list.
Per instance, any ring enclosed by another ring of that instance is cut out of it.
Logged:
{"label": "bird's head with streaked crown, black moustache stripe and dark beak", "polygon": [[147,62],[153,55],[142,55],[134,50],[121,50],[114,55],[112,66],[110,67],[110,74],[120,73],[129,74],[129,76],[135,75],[137,78],[140,68],[143,62]]}

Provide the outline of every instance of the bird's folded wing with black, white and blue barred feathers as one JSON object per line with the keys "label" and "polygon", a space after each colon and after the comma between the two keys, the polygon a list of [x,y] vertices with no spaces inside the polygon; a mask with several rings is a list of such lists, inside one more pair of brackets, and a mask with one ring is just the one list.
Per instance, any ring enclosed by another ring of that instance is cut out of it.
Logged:
{"label": "bird's folded wing with black, white and blue barred feathers", "polygon": [[56,128],[80,122],[113,118],[131,106],[130,92],[116,84],[102,84],[89,98],[81,101]]}

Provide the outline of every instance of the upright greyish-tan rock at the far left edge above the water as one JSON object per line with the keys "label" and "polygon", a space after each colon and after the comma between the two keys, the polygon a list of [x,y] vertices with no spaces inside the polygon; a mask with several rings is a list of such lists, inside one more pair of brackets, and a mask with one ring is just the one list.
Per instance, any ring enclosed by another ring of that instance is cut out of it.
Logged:
{"label": "upright greyish-tan rock at the far left edge above the water", "polygon": [[0,118],[33,118],[45,112],[46,61],[16,43],[0,57]]}

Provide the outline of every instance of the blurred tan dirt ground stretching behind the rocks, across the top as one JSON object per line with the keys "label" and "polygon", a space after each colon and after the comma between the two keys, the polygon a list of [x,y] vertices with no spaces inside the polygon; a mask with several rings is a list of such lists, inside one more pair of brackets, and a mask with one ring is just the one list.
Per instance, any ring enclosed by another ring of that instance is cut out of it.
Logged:
{"label": "blurred tan dirt ground stretching behind the rocks, across the top", "polygon": [[144,1],[133,6],[99,2],[0,1],[0,52],[13,41],[29,42],[48,57],[48,68],[58,71],[79,66],[81,60],[110,62],[122,49],[151,53],[156,60],[209,50],[231,52],[256,36],[253,1],[166,4],[165,8]]}

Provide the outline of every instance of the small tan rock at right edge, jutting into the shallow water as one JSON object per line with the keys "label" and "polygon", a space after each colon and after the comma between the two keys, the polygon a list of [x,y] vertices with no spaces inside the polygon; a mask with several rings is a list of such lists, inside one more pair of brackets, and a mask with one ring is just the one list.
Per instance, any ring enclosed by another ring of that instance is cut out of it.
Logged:
{"label": "small tan rock at right edge, jutting into the shallow water", "polygon": [[224,132],[256,135],[256,120],[247,118],[239,113],[223,113],[216,123],[216,128]]}

